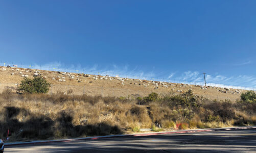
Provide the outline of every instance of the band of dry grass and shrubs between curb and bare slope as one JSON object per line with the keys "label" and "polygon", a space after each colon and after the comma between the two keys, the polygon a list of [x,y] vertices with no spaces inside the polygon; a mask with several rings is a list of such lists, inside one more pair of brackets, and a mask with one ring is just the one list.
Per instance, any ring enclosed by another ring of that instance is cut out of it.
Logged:
{"label": "band of dry grass and shrubs between curb and bare slope", "polygon": [[[29,82],[30,83],[30,82]],[[46,83],[46,82],[45,82]],[[34,89],[32,90],[34,91]],[[0,138],[10,141],[256,124],[254,91],[236,102],[184,93],[127,99],[37,92],[0,94]]]}

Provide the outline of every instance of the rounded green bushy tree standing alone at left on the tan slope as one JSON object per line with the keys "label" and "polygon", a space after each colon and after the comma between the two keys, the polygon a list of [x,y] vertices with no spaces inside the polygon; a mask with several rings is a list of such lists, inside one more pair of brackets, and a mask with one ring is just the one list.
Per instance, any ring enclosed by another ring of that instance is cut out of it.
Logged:
{"label": "rounded green bushy tree standing alone at left on the tan slope", "polygon": [[49,91],[50,85],[50,83],[40,77],[34,77],[33,79],[24,78],[18,90],[25,93],[46,93]]}

